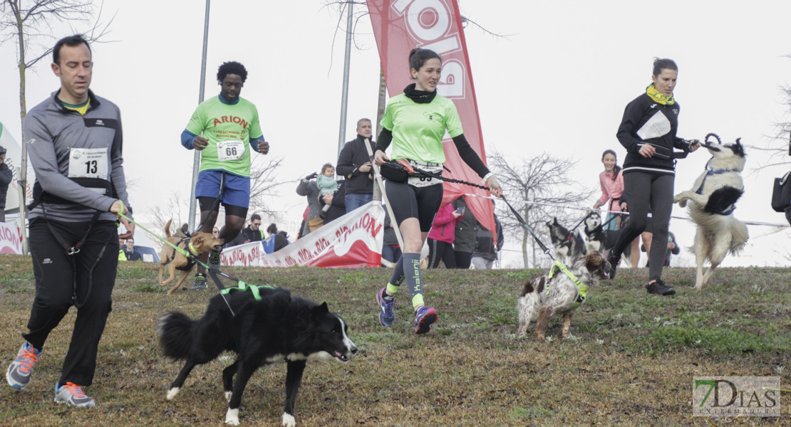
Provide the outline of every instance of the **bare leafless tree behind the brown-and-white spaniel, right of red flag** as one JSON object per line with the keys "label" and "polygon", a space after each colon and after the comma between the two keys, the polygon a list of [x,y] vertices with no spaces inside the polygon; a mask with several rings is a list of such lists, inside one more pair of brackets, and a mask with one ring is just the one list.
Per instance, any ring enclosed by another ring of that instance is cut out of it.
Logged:
{"label": "bare leafless tree behind the brown-and-white spaniel, right of red flag", "polygon": [[[573,227],[585,215],[581,211],[570,211],[562,205],[581,204],[592,197],[594,190],[582,189],[581,185],[573,182],[571,172],[577,163],[569,159],[558,159],[546,152],[533,155],[530,158],[506,156],[501,152],[489,155],[489,165],[501,180],[503,193],[505,193],[514,208],[520,211],[528,227],[536,234],[544,223],[552,217],[558,217],[560,223],[566,227]],[[519,208],[516,200],[526,200]],[[505,204],[497,204],[497,215],[505,234],[522,242],[522,260],[524,268],[538,267],[538,245],[517,221],[513,213]],[[543,242],[550,246],[551,242]],[[529,249],[529,252],[528,252]],[[528,254],[532,253],[532,262]]]}

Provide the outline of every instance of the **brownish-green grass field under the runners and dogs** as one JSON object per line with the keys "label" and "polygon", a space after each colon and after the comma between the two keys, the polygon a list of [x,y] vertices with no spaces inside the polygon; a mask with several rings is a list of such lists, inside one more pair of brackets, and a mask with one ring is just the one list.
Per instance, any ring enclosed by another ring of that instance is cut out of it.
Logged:
{"label": "brownish-green grass field under the runners and dogs", "polygon": [[[414,335],[406,292],[396,297],[392,328],[377,322],[374,293],[388,270],[375,268],[228,268],[248,283],[270,284],[326,301],[349,324],[359,354],[348,364],[305,370],[297,425],[565,426],[791,425],[789,393],[780,418],[694,418],[692,376],[781,376],[791,380],[791,269],[724,268],[693,290],[694,271],[666,269],[675,297],[645,294],[645,269],[622,269],[589,291],[572,337],[536,343],[517,337],[517,294],[535,272],[430,270],[426,302],[439,320]],[[50,335],[27,391],[2,386],[0,425],[222,425],[227,404],[221,369],[199,366],[175,400],[165,399],[181,367],[157,347],[157,317],[178,309],[200,317],[216,290],[156,285],[157,266],[122,263],[113,311],[86,391],[93,409],[53,403],[74,309]],[[230,283],[229,283],[230,284]],[[34,280],[29,258],[0,256],[0,361],[6,369],[26,331]],[[532,327],[531,327],[532,331]],[[245,391],[242,425],[280,425],[285,365],[259,369]]]}

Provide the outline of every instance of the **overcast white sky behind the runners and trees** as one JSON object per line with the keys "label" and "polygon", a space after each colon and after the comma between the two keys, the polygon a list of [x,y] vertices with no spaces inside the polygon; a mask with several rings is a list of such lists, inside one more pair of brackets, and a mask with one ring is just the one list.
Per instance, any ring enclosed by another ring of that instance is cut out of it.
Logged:
{"label": "overcast white sky behind the runners and trees", "polygon": [[[221,62],[247,67],[241,96],[259,109],[270,155],[284,159],[279,181],[296,180],[337,160],[344,34],[338,32],[333,45],[339,15],[323,5],[323,0],[212,2],[206,97],[219,92],[214,75]],[[791,60],[783,57],[791,54],[787,0],[463,0],[460,7],[491,32],[509,35],[496,38],[472,25],[465,31],[486,151],[516,159],[550,150],[578,160],[573,178],[581,185],[598,185],[604,149],[615,148],[619,159],[625,154],[615,130],[626,103],[650,83],[655,56],[679,64],[679,137],[710,132],[725,140],[741,137],[747,168],[753,169],[766,163],[766,156],[751,146],[765,148],[774,122],[789,121],[779,91],[791,83]],[[118,42],[93,46],[92,89],[121,108],[125,167],[137,180],[131,203],[145,221],[149,209],[165,207],[172,192],[189,195],[192,152],[180,145],[179,136],[198,103],[205,3],[106,0],[104,9],[107,17],[117,10],[108,39]],[[56,36],[68,33],[57,31]],[[358,118],[376,118],[379,58],[367,17],[358,21],[357,32],[346,140],[354,138]],[[0,121],[19,140],[14,47],[0,46],[5,88]],[[49,62],[28,72],[28,108],[59,87]],[[677,191],[691,187],[708,158],[698,152],[679,161]],[[783,223],[769,200],[773,178],[784,171],[750,172],[735,215]],[[305,208],[296,185],[282,186],[272,200],[285,212],[283,225],[292,233]],[[673,215],[686,212],[676,208]],[[674,219],[671,229],[685,247],[674,264],[691,264],[686,247],[694,228]],[[789,264],[782,254],[770,255],[789,252],[789,230],[773,231],[750,227],[752,240],[743,256],[725,264]],[[517,248],[507,244],[506,249]],[[518,267],[515,253],[506,253],[505,266]]]}

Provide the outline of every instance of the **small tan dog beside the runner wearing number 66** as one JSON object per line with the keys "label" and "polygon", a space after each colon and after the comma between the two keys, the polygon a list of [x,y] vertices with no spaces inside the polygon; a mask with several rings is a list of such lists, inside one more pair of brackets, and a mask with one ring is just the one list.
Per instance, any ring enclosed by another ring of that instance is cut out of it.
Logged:
{"label": "small tan dog beside the runner wearing number 66", "polygon": [[[184,238],[172,237],[170,235],[170,223],[172,223],[172,219],[168,221],[168,224],[165,226],[165,236],[168,238],[168,242],[171,242],[173,245],[177,245],[180,249],[186,250],[188,253],[193,254],[195,257],[199,257],[201,253],[209,252],[211,249],[214,250],[221,250],[223,241],[221,238],[214,238],[214,235],[211,233],[195,233],[192,234],[192,237],[187,241]],[[173,279],[176,279],[176,269],[181,270],[181,277],[173,285],[170,290],[168,290],[168,295],[172,294],[176,289],[184,283],[184,280],[187,279],[187,275],[190,274],[193,268],[195,268],[195,262],[187,260],[187,257],[184,257],[182,253],[173,249],[171,245],[164,245],[162,246],[162,250],[159,253],[160,265],[159,265],[159,283],[160,286],[168,286]],[[168,267],[168,272],[170,273],[170,277],[168,277],[165,282],[162,281],[162,272],[165,271],[165,266]],[[187,289],[186,287],[184,289]]]}

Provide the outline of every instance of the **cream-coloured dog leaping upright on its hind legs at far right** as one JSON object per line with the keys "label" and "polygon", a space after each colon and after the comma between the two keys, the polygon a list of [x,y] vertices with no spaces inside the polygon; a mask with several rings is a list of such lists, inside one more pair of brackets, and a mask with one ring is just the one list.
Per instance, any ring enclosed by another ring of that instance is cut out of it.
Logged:
{"label": "cream-coloured dog leaping upright on its hind legs at far right", "polygon": [[[747,226],[733,216],[736,200],[744,193],[744,183],[740,172],[744,170],[744,146],[737,138],[732,144],[712,144],[709,152],[712,157],[691,190],[683,191],[673,197],[673,203],[680,207],[689,203],[690,217],[698,224],[695,232],[694,250],[698,263],[698,279],[695,289],[701,289],[725,259],[727,253],[738,253],[747,244]],[[703,273],[703,263],[711,262],[710,268]]]}

